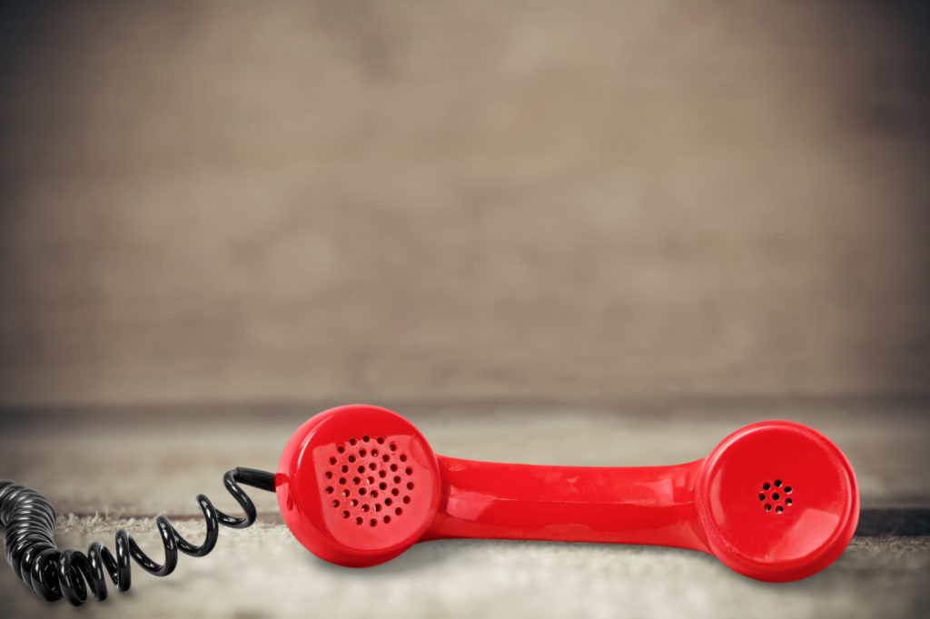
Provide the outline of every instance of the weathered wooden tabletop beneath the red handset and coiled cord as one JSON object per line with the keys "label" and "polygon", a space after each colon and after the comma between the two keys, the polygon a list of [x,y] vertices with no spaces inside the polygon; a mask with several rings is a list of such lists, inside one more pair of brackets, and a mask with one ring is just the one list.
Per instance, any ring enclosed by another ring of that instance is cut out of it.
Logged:
{"label": "weathered wooden tabletop beneath the red handset and coiled cord", "polygon": [[[235,512],[220,476],[273,469],[284,442],[326,404],[7,410],[0,476],[46,494],[59,541],[112,543],[127,527],[157,557],[153,517],[199,539],[195,494]],[[703,401],[662,406],[533,402],[392,403],[437,453],[499,461],[637,466],[707,454],[729,431],[764,418],[812,425],[857,471],[857,535],[830,568],[769,585],[700,553],[663,547],[448,540],[367,570],[317,560],[290,536],[272,494],[253,493],[259,523],[224,529],[203,559],[181,557],[156,579],[84,616],[920,616],[930,601],[930,424],[927,403],[902,400]],[[74,616],[0,577],[5,616]]]}

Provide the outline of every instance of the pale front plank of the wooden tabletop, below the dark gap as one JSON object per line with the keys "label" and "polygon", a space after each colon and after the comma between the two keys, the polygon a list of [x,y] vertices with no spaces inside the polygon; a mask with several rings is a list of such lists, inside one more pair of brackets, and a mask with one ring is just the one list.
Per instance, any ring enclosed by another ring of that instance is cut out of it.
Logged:
{"label": "pale front plank of the wooden tabletop, below the dark gap", "polygon": [[[84,545],[136,522],[69,522],[61,538]],[[188,523],[181,533],[198,534]],[[156,535],[140,535],[158,547]],[[182,557],[165,579],[139,575],[128,594],[81,609],[86,617],[923,617],[930,538],[855,538],[826,571],[786,585],[730,572],[677,548],[499,540],[435,541],[388,564],[352,570],[316,560],[284,525],[224,532],[213,554]],[[0,574],[4,611],[73,617],[13,574]]]}

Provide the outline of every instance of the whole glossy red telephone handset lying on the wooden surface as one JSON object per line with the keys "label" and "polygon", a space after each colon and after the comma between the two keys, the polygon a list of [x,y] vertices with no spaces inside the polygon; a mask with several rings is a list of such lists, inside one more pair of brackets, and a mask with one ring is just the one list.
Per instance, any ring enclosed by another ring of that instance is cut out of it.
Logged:
{"label": "whole glossy red telephone handset lying on the wooden surface", "polygon": [[670,467],[545,467],[432,453],[386,409],[312,417],[287,442],[278,503],[322,559],[363,567],[444,537],[685,547],[752,578],[789,581],[840,556],[856,529],[856,478],[812,428],[765,421]]}

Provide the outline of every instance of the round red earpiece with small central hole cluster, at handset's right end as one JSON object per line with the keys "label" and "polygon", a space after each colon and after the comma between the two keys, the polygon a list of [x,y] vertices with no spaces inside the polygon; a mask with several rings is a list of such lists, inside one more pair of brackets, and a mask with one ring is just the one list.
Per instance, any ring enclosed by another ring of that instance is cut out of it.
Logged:
{"label": "round red earpiece with small central hole cluster, at handset's right end", "polygon": [[764,421],[726,437],[697,478],[711,552],[739,573],[785,582],[836,560],[856,531],[856,476],[813,428]]}

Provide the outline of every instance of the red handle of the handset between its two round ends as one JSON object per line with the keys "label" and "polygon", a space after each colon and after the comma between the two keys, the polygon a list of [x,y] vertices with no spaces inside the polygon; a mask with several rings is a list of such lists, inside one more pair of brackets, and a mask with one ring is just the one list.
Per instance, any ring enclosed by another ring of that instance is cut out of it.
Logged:
{"label": "red handle of the handset between its two round ends", "polygon": [[703,459],[608,468],[436,458],[442,496],[424,540],[540,539],[708,551],[695,506]]}

